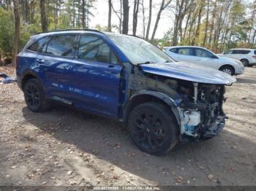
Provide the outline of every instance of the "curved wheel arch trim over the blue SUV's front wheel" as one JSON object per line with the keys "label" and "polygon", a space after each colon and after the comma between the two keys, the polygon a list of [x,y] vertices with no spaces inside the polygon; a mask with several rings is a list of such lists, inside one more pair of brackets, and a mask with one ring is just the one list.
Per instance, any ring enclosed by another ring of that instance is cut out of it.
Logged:
{"label": "curved wheel arch trim over the blue SUV's front wheel", "polygon": [[176,101],[173,98],[170,98],[170,96],[166,95],[165,93],[152,90],[140,90],[129,98],[129,101],[124,108],[124,123],[127,124],[129,113],[132,111],[132,109],[135,108],[135,106],[146,103],[148,101],[157,101],[159,103],[170,106],[170,112],[173,113],[178,126],[181,127],[181,120],[177,109]]}

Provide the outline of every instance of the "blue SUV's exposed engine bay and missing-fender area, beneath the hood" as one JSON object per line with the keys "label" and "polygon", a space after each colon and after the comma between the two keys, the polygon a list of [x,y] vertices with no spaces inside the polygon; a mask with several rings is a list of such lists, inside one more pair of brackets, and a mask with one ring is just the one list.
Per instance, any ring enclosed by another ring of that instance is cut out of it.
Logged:
{"label": "blue SUV's exposed engine bay and missing-fender area, beneath the hood", "polygon": [[154,74],[134,75],[132,90],[159,90],[173,99],[180,117],[181,139],[209,139],[225,126],[225,85],[189,82]]}

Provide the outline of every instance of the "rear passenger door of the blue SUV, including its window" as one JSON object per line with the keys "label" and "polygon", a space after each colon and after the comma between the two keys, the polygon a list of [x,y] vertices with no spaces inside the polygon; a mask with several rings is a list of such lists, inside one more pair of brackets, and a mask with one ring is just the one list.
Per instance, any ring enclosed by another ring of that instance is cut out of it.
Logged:
{"label": "rear passenger door of the blue SUV, including its window", "polygon": [[69,87],[72,80],[70,69],[74,58],[75,34],[51,36],[45,50],[37,55],[36,65],[44,76],[48,97],[69,100]]}

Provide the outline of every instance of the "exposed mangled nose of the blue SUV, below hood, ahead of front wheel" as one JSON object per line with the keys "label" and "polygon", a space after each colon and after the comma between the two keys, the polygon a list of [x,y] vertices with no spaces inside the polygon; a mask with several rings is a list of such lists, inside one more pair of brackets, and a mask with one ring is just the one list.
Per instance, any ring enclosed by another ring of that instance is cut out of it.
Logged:
{"label": "exposed mangled nose of the blue SUV, below hood, ahead of front wheel", "polygon": [[182,102],[178,106],[181,117],[181,138],[210,139],[225,126],[225,85],[207,85],[197,82],[180,86]]}

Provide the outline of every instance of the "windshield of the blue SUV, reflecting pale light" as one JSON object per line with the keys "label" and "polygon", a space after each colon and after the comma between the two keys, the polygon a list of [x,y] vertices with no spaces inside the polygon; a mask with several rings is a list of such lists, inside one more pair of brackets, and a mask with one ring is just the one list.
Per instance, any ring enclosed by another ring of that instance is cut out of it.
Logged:
{"label": "windshield of the blue SUV, reflecting pale light", "polygon": [[154,47],[154,45],[139,39],[135,36],[108,34],[108,37],[116,46],[124,52],[130,62],[133,64],[140,63],[168,63],[173,62],[165,52]]}

